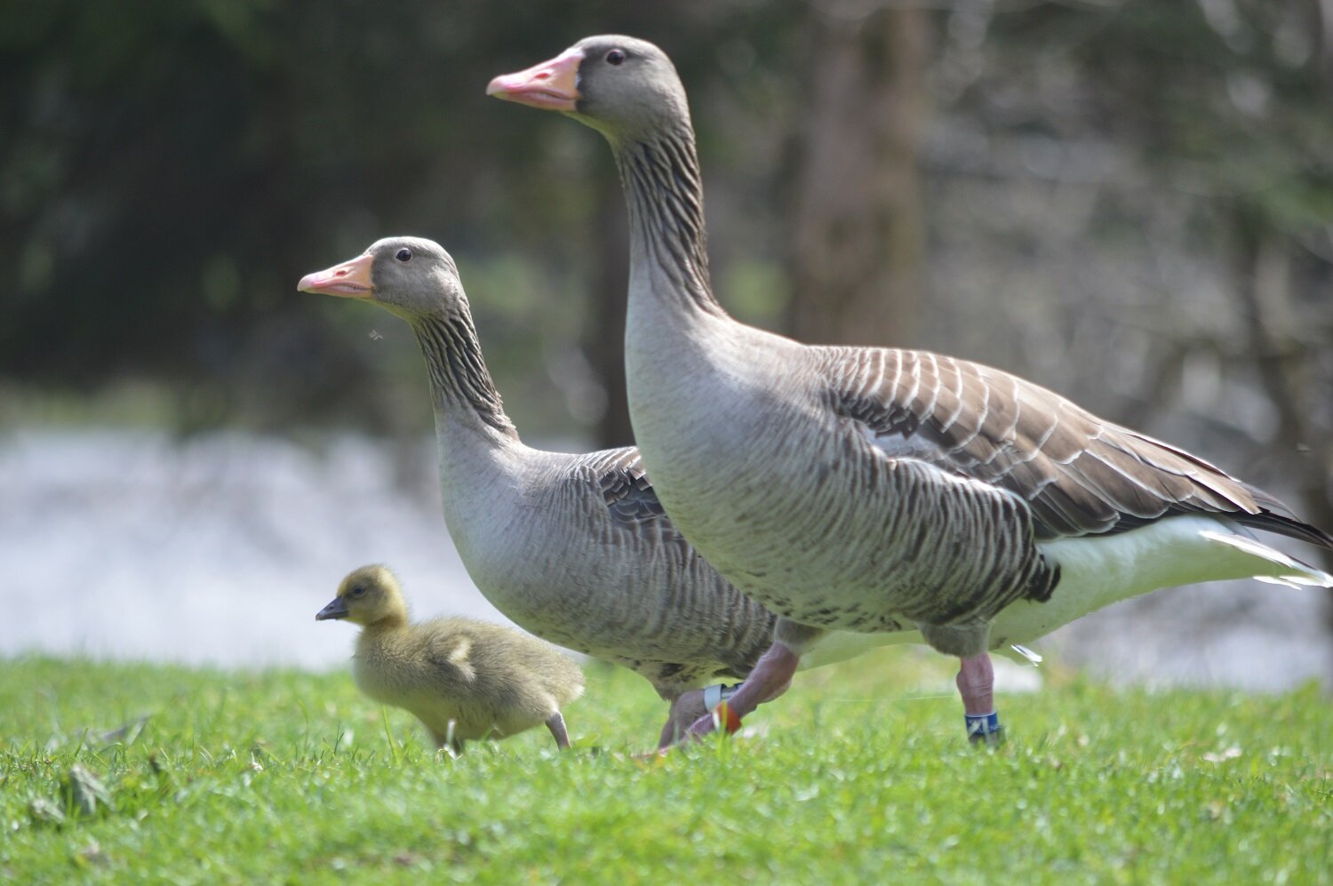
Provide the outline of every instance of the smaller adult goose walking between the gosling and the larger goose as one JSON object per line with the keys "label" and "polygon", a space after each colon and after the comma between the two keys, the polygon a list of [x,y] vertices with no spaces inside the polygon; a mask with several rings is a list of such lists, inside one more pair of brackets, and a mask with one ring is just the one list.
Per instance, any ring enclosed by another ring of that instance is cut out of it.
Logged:
{"label": "smaller adult goose walking between the gosling and the larger goose", "polygon": [[[689,546],[636,449],[565,454],[524,445],[481,358],[457,268],[439,244],[380,240],[297,288],[371,301],[412,326],[435,406],[444,520],[496,609],[544,640],[643,674],[670,702],[663,745],[729,691],[701,686],[749,673],[776,616]],[[810,664],[880,642],[832,637]]]}

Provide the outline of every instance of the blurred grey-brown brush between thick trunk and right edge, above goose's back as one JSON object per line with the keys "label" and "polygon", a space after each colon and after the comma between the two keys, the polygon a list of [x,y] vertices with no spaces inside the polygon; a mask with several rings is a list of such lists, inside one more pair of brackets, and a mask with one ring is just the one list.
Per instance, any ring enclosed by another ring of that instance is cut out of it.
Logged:
{"label": "blurred grey-brown brush between thick trunk and right edge, above goose's back", "polygon": [[970,240],[932,221],[936,266],[980,245],[972,260],[998,272],[985,285],[1024,314],[990,360],[1205,452],[1325,526],[1328,16],[1298,0],[958,4],[928,160],[940,204],[966,196],[984,216],[985,195],[1009,212],[965,217]]}

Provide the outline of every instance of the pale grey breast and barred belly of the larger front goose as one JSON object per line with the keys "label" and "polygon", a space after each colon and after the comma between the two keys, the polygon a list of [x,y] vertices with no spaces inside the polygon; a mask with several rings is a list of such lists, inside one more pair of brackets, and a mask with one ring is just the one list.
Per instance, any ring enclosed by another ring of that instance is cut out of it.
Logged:
{"label": "pale grey breast and barred belly of the larger front goose", "polygon": [[708,348],[644,332],[627,334],[644,465],[742,592],[802,624],[878,633],[985,618],[1026,589],[1040,564],[1026,506],[885,457],[801,381],[801,361],[818,369],[809,349],[744,328]]}

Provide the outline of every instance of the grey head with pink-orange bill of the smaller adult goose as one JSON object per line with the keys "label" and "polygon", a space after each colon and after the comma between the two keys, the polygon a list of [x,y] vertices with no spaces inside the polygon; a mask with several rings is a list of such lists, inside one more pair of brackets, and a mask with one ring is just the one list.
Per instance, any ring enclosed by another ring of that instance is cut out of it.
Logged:
{"label": "grey head with pink-orange bill of the smaller adult goose", "polygon": [[301,292],[363,298],[413,320],[455,313],[465,296],[453,257],[421,237],[387,237],[364,253],[301,277]]}

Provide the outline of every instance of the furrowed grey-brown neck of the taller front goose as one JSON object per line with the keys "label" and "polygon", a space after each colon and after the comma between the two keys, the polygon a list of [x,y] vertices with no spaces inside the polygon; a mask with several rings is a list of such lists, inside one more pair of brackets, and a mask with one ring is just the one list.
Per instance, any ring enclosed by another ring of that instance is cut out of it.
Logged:
{"label": "furrowed grey-brown neck of the taller front goose", "polygon": [[708,278],[704,188],[689,121],[613,149],[629,204],[631,292],[725,317]]}

